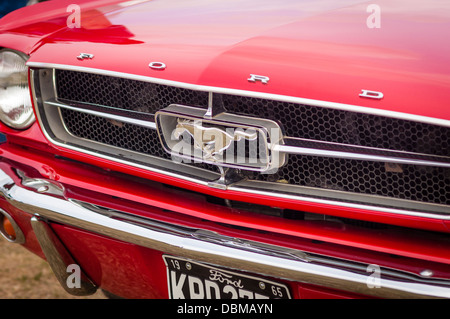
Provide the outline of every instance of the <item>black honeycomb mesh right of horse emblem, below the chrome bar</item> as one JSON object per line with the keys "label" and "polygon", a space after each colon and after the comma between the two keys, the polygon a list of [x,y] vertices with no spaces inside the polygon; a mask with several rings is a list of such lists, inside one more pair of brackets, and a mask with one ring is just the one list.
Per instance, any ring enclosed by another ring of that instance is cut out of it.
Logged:
{"label": "black honeycomb mesh right of horse emblem, below the chrome bar", "polygon": [[276,174],[254,179],[450,205],[450,170],[316,156],[290,156]]}

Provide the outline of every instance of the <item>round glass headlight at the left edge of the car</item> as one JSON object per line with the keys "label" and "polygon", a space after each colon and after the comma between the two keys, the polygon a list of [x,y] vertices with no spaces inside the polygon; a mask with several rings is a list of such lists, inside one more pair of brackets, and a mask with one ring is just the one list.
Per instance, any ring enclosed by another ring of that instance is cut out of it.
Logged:
{"label": "round glass headlight at the left edge of the car", "polygon": [[26,61],[20,52],[0,51],[0,120],[15,129],[25,129],[35,120]]}

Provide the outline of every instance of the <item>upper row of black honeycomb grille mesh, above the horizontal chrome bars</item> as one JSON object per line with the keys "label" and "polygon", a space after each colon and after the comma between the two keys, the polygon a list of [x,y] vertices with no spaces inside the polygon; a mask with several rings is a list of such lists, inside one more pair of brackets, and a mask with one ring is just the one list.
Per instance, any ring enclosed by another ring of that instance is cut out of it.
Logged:
{"label": "upper row of black honeycomb grille mesh, above the horizontal chrome bars", "polygon": [[[206,108],[209,99],[209,92],[67,70],[56,70],[56,88],[59,98],[150,114],[170,104]],[[448,127],[229,94],[214,93],[213,101],[276,121],[290,137],[450,157]]]}

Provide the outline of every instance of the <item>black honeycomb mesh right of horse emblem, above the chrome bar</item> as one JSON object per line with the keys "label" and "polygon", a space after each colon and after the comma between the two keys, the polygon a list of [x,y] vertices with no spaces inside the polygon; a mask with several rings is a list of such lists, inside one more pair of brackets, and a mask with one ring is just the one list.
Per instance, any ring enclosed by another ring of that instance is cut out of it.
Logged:
{"label": "black honeycomb mesh right of horse emblem, above the chrome bar", "polygon": [[281,122],[286,136],[450,156],[450,131],[445,127],[234,95],[223,95],[222,101],[228,112],[245,110]]}

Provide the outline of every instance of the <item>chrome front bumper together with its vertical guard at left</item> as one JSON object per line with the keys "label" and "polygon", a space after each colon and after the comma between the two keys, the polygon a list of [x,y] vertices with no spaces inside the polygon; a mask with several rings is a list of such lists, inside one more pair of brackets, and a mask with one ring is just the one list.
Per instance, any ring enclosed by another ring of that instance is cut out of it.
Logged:
{"label": "chrome front bumper together with its vertical guard at left", "polygon": [[[48,227],[48,221],[199,262],[294,282],[382,298],[450,298],[447,280],[382,269],[379,281],[373,285],[367,264],[137,217],[68,199],[62,185],[19,175],[21,185],[0,169],[0,194],[11,205],[31,215],[33,229],[47,260],[66,290],[66,266],[73,261]],[[83,289],[69,292],[80,295],[95,291],[89,279],[83,282]]]}

